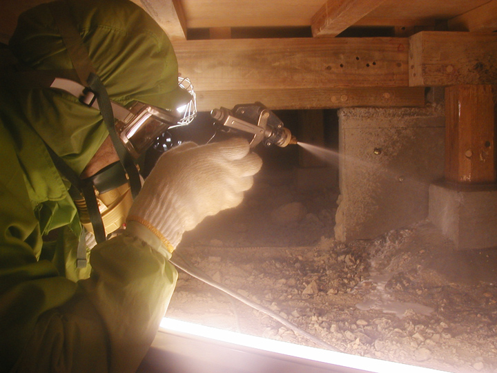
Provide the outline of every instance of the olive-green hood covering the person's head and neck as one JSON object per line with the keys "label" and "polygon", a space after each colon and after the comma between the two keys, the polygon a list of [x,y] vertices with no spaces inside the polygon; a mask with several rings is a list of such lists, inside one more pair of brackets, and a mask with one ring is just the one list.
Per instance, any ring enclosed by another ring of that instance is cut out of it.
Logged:
{"label": "olive-green hood covering the person's head and neck", "polygon": [[[177,86],[177,61],[166,33],[125,0],[68,0],[77,29],[110,99],[173,109],[190,96]],[[10,49],[36,70],[70,70],[72,63],[50,8],[21,17]],[[75,97],[50,89],[17,91],[28,123],[80,173],[108,135],[101,115]]]}

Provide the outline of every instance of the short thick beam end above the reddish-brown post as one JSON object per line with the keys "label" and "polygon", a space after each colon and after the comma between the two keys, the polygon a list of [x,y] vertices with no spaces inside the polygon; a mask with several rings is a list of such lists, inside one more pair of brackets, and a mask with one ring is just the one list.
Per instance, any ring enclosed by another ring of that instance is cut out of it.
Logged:
{"label": "short thick beam end above the reddish-brown post", "polygon": [[497,34],[423,31],[409,41],[410,86],[497,84]]}

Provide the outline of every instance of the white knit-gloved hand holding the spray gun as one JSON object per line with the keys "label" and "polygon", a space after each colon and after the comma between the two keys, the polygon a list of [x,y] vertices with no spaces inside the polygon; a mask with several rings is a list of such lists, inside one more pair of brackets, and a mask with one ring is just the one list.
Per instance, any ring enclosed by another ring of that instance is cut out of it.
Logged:
{"label": "white knit-gloved hand holding the spray gun", "polygon": [[235,207],[253,184],[262,160],[240,138],[197,146],[188,142],[162,155],[128,214],[172,252],[185,231],[206,216]]}

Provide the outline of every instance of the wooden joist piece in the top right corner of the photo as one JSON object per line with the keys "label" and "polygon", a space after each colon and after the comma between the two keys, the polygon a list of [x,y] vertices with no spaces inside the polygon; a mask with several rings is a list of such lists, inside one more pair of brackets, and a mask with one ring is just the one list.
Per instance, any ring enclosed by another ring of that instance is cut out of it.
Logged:
{"label": "wooden joist piece in the top right corner of the photo", "polygon": [[497,0],[449,19],[449,30],[489,32],[497,30]]}

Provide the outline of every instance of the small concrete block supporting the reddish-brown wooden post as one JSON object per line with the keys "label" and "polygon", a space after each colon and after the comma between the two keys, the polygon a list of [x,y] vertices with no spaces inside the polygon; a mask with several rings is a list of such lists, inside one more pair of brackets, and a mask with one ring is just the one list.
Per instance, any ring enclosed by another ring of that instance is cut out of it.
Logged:
{"label": "small concrete block supporting the reddish-brown wooden post", "polygon": [[431,184],[428,218],[457,249],[497,247],[497,185]]}

